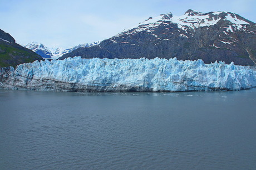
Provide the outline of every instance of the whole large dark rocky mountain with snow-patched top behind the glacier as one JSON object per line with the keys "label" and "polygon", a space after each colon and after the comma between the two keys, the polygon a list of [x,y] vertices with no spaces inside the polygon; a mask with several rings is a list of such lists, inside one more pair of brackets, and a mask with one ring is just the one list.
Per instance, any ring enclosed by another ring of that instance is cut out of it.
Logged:
{"label": "whole large dark rocky mountain with snow-patched top behind the glacier", "polygon": [[201,13],[189,9],[183,16],[172,13],[146,19],[98,45],[78,48],[60,59],[174,58],[202,59],[205,63],[232,61],[256,63],[255,23],[230,12]]}

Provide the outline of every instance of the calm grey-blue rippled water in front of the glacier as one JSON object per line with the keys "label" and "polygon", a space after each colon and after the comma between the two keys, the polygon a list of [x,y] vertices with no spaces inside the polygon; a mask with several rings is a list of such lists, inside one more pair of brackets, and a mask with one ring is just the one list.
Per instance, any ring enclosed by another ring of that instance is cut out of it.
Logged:
{"label": "calm grey-blue rippled water in front of the glacier", "polygon": [[0,169],[254,169],[256,89],[0,90]]}

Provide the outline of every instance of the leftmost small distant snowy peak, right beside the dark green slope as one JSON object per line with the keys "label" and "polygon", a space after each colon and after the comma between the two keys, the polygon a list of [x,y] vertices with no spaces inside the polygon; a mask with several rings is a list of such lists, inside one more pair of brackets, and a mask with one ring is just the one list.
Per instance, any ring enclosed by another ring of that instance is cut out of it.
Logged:
{"label": "leftmost small distant snowy peak, right beside the dark green slope", "polygon": [[52,58],[52,52],[45,45],[37,42],[31,42],[24,46],[27,49],[31,49],[38,55],[42,56],[42,58],[50,59]]}

